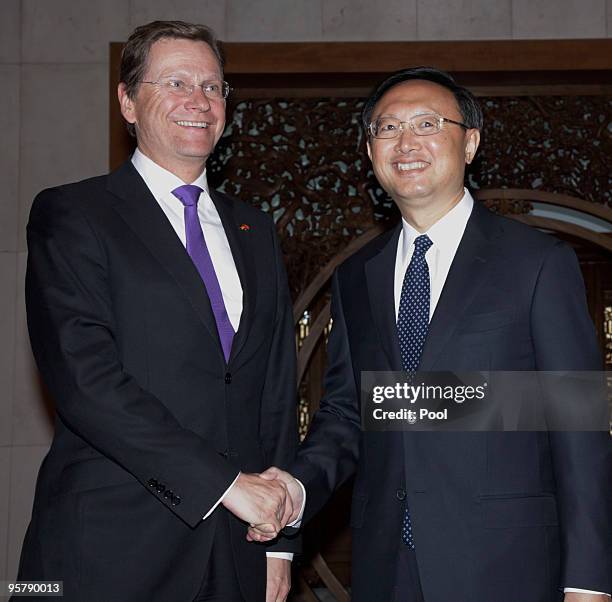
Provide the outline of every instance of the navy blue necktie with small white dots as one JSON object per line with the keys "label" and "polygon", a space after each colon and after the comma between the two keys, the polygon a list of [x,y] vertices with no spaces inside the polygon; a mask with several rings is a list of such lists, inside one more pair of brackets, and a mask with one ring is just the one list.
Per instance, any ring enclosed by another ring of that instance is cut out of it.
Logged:
{"label": "navy blue necktie with small white dots", "polygon": [[[397,317],[402,367],[414,373],[421,361],[429,326],[430,284],[425,253],[433,243],[426,234],[414,241],[414,253],[404,275]],[[410,510],[406,507],[402,522],[402,542],[414,550]]]}

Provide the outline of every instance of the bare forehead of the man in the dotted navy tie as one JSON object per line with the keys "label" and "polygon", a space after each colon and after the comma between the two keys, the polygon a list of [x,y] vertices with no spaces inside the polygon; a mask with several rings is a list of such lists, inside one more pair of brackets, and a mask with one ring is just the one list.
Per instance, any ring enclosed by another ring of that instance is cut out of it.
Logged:
{"label": "bare forehead of the man in the dotted navy tie", "polygon": [[374,114],[380,114],[388,107],[419,105],[435,110],[458,110],[454,94],[444,86],[423,79],[400,82],[387,90],[374,106]]}

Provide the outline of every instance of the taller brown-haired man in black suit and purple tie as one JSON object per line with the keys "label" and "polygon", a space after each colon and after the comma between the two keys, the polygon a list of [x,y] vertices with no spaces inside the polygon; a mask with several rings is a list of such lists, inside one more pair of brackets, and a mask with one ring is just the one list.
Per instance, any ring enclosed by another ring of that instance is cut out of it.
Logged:
{"label": "taller brown-haired man in black suit and purple tie", "polygon": [[291,303],[272,220],[207,186],[228,92],[208,28],[137,28],[118,90],[134,156],[32,207],[28,327],[57,420],[19,579],[67,600],[289,589],[295,542],[246,532],[292,512],[256,474],[297,446]]}

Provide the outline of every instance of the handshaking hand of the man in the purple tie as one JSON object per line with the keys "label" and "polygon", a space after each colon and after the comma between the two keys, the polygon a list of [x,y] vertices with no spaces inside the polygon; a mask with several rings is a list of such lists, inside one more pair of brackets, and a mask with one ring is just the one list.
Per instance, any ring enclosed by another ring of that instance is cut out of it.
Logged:
{"label": "handshaking hand of the man in the purple tie", "polygon": [[263,479],[258,474],[241,473],[221,503],[251,526],[266,525],[271,539],[293,514],[285,483],[280,479]]}

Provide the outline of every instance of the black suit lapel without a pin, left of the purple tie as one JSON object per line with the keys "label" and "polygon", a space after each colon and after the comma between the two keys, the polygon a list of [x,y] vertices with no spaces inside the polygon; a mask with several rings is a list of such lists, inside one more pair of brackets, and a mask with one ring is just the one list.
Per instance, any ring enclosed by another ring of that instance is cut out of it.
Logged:
{"label": "black suit lapel without a pin, left of the purple tie", "polygon": [[202,278],[131,161],[109,175],[108,190],[116,198],[115,210],[174,278],[223,357],[217,324]]}

